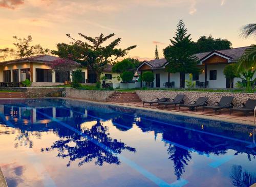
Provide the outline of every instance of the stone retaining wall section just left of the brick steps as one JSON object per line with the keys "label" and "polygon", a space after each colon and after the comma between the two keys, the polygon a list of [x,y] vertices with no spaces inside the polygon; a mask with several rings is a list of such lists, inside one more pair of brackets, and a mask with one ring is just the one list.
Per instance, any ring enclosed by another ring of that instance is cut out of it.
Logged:
{"label": "stone retaining wall section just left of the brick steps", "polygon": [[66,89],[67,98],[84,99],[91,101],[106,101],[115,91],[109,90],[81,90],[81,89]]}

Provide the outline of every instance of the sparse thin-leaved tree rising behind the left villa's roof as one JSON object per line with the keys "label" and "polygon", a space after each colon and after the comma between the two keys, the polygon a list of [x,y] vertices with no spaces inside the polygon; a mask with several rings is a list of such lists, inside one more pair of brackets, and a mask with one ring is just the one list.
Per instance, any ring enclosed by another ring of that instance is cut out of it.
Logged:
{"label": "sparse thin-leaved tree rising behind the left villa's roof", "polygon": [[18,38],[17,36],[13,36],[13,38],[16,39],[16,42],[13,43],[16,49],[12,50],[11,52],[16,58],[44,55],[49,52],[48,49],[42,48],[40,44],[32,45],[31,35],[29,35],[27,38]]}

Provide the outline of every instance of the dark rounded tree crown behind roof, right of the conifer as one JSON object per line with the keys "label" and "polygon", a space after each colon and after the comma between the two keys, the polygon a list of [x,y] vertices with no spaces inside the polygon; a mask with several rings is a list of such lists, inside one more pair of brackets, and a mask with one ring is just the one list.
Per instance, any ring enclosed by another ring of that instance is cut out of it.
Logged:
{"label": "dark rounded tree crown behind roof, right of the conifer", "polygon": [[195,53],[203,53],[214,50],[226,50],[231,49],[232,43],[226,39],[213,38],[211,35],[201,36],[197,42],[195,42]]}

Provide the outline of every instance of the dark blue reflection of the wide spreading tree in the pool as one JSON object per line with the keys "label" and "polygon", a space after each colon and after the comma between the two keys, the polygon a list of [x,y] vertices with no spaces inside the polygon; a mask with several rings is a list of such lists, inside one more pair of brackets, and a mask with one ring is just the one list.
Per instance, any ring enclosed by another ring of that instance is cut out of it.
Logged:
{"label": "dark blue reflection of the wide spreading tree in the pool", "polygon": [[[99,120],[97,120],[97,123],[91,129],[84,129],[83,133],[96,139],[99,143],[104,144],[116,153],[121,153],[122,150],[136,152],[135,148],[126,146],[121,141],[109,137],[108,127],[103,127]],[[120,164],[118,156],[100,148],[86,137],[76,133],[73,136],[56,141],[50,148],[42,149],[41,151],[51,151],[54,149],[58,150],[58,157],[70,159],[67,167],[76,159],[81,160],[78,166],[82,166],[86,162],[91,162],[93,159],[96,159],[95,165],[98,166],[102,166],[104,162]]]}

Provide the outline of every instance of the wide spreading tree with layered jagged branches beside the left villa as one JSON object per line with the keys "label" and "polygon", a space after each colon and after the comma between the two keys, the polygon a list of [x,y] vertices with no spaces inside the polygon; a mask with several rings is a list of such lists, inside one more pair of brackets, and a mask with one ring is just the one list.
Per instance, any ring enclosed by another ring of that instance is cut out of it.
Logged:
{"label": "wide spreading tree with layered jagged branches beside the left villa", "polygon": [[65,57],[87,66],[97,75],[97,81],[100,80],[100,75],[107,64],[111,64],[119,57],[123,57],[128,51],[136,48],[136,45],[129,46],[126,49],[117,48],[121,38],[117,38],[107,45],[105,41],[112,38],[115,34],[104,36],[100,34],[98,37],[90,37],[79,33],[85,41],[72,38],[71,35],[67,36],[72,40],[70,44],[58,43],[57,51],[52,51],[53,54],[59,57]]}

